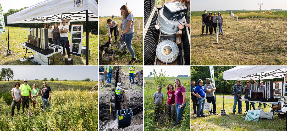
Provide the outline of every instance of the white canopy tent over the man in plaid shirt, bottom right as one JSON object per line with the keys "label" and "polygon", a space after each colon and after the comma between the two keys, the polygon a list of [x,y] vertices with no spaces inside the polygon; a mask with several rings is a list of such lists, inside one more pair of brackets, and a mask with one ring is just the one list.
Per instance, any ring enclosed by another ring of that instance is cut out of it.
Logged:
{"label": "white canopy tent over the man in plaid shirt, bottom right", "polygon": [[[223,92],[225,92],[225,80],[265,80],[283,78],[287,72],[287,66],[248,66],[239,65],[223,72]],[[224,93],[223,93],[224,110]]]}

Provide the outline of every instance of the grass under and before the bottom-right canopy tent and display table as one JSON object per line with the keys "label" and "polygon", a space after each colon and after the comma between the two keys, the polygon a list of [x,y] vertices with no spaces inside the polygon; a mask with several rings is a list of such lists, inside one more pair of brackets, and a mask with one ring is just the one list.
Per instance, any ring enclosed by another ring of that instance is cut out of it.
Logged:
{"label": "grass under and before the bottom-right canopy tent and display table", "polygon": [[[273,120],[259,119],[258,122],[245,121],[245,118],[241,118],[243,114],[232,114],[232,107],[234,103],[233,96],[224,100],[224,109],[226,110],[226,116],[221,116],[221,110],[223,109],[223,95],[216,95],[216,111],[219,115],[209,116],[209,111],[203,111],[205,118],[196,118],[196,115],[191,115],[190,127],[191,131],[250,131],[250,130],[285,130],[285,119],[280,119],[278,116],[274,116]],[[205,101],[207,102],[207,101]],[[250,104],[250,103],[249,103]],[[271,106],[271,104],[268,104]],[[257,109],[259,103],[255,104]],[[212,106],[213,107],[213,106]],[[263,107],[263,105],[262,105]],[[268,106],[267,106],[268,107]],[[191,114],[193,114],[193,106],[191,104]],[[269,111],[269,108],[263,108],[265,111]],[[251,108],[253,110],[253,108]],[[242,102],[242,112],[246,110],[245,102]]]}

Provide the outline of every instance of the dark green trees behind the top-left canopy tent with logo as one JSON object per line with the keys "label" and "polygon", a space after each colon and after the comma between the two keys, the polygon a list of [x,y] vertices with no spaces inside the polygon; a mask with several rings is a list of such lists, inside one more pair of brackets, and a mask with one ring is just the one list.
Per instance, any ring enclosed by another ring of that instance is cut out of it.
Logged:
{"label": "dark green trees behind the top-left canopy tent with logo", "polygon": [[[26,9],[28,7],[23,7],[20,9],[9,9],[7,13],[3,13],[4,15],[4,20],[5,20],[5,25],[7,26],[7,16],[12,15],[14,13],[17,13],[23,9]],[[60,24],[60,22],[56,22],[57,24]],[[17,24],[9,24],[9,26],[15,26],[15,27],[28,27],[28,28],[42,28],[42,25],[44,23],[17,23]],[[51,24],[54,25],[55,23],[46,23],[46,24]],[[70,29],[72,27],[72,24],[83,24],[83,31],[86,31],[86,21],[78,21],[78,22],[70,22]],[[92,29],[98,29],[98,21],[89,21],[89,32],[92,31]]]}

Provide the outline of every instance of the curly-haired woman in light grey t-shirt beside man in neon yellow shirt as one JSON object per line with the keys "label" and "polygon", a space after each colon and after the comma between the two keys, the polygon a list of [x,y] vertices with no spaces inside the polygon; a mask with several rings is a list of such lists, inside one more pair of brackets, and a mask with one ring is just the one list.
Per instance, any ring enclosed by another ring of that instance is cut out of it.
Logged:
{"label": "curly-haired woman in light grey t-shirt beside man in neon yellow shirt", "polygon": [[15,82],[14,83],[14,87],[12,90],[11,90],[11,96],[12,96],[12,104],[11,104],[11,116],[13,117],[14,116],[14,110],[15,110],[15,106],[17,105],[17,112],[19,114],[19,111],[20,111],[20,103],[21,103],[21,97],[22,97],[22,94],[21,94],[21,90],[19,89],[20,87],[20,83],[19,82]]}

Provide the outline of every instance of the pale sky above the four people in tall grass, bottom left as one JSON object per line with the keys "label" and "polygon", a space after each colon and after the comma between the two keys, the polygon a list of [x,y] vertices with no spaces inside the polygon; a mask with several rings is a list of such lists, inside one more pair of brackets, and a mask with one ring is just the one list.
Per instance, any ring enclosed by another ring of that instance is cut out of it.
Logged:
{"label": "pale sky above the four people in tall grass, bottom left", "polygon": [[84,80],[90,78],[90,80],[98,80],[98,66],[5,66],[1,65],[2,68],[11,68],[14,73],[13,80],[43,80],[47,78],[58,78],[59,80]]}

